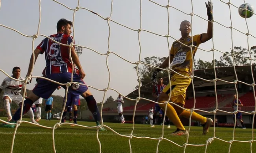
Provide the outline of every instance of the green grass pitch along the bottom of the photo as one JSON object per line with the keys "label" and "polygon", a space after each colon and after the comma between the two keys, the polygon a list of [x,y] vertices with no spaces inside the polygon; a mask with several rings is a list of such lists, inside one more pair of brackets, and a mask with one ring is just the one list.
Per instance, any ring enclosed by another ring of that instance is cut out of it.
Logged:
{"label": "green grass pitch along the bottom of the photo", "polygon": [[[5,119],[5,118],[1,118]],[[27,119],[25,119],[27,120]],[[28,120],[27,120],[28,121]],[[53,127],[57,120],[41,120],[41,125]],[[80,125],[95,126],[94,122],[78,122]],[[105,123],[120,134],[129,136],[132,130],[132,124]],[[187,138],[185,136],[170,136],[169,134],[176,130],[174,126],[167,129],[165,126],[164,137],[183,145]],[[10,153],[11,142],[14,129],[0,128],[0,153]],[[96,137],[96,129],[87,129],[83,127],[71,127],[63,125],[55,130],[55,147],[57,153],[98,153],[99,145]],[[136,124],[133,135],[137,137],[159,138],[162,134],[162,126],[155,128],[149,125]],[[232,140],[232,128],[216,128],[216,137],[223,140]],[[202,136],[202,127],[192,127],[189,135],[189,144],[206,144],[206,140],[213,137],[213,128],[206,136]],[[252,129],[236,129],[235,140],[251,140]],[[129,144],[127,137],[121,137],[111,130],[99,132],[102,153],[129,153]],[[17,130],[14,144],[14,153],[53,153],[52,147],[52,129],[22,123]],[[158,140],[147,138],[132,138],[133,153],[155,153]],[[183,153],[184,148],[178,147],[169,141],[162,140],[159,144],[159,153]],[[204,153],[205,146],[187,146],[186,153]],[[207,153],[227,153],[229,143],[215,139],[208,145]],[[233,142],[231,153],[251,153],[249,142]],[[256,152],[256,143],[252,143],[252,152]]]}

